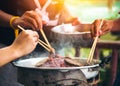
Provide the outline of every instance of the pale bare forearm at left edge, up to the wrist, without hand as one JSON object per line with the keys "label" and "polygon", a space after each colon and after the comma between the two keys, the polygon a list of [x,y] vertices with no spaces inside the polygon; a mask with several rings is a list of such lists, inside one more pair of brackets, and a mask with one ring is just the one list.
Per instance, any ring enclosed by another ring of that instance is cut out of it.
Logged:
{"label": "pale bare forearm at left edge, up to the wrist, without hand", "polygon": [[12,46],[0,49],[0,67],[19,57],[15,50]]}

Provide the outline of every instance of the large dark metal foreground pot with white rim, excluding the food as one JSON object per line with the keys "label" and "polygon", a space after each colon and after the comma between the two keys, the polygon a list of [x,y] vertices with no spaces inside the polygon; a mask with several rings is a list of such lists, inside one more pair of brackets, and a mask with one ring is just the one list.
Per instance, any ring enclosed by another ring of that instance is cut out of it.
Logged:
{"label": "large dark metal foreground pot with white rim, excluding the food", "polygon": [[35,67],[37,62],[45,58],[13,62],[18,68],[18,82],[25,86],[89,86],[87,79],[99,73],[98,64],[83,67]]}

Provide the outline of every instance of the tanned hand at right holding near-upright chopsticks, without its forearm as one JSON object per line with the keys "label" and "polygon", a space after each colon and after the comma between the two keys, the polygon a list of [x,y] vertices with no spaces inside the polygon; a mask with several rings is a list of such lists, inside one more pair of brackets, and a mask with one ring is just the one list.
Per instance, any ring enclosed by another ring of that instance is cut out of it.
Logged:
{"label": "tanned hand at right holding near-upright chopsticks, without its forearm", "polygon": [[[92,37],[95,37],[97,35],[101,36],[103,34],[106,34],[106,33],[110,32],[113,27],[112,20],[103,20],[103,24],[102,24],[101,28],[99,28],[100,23],[101,23],[101,19],[97,19],[92,23],[92,28],[90,29]],[[98,31],[98,29],[99,29],[99,31]]]}

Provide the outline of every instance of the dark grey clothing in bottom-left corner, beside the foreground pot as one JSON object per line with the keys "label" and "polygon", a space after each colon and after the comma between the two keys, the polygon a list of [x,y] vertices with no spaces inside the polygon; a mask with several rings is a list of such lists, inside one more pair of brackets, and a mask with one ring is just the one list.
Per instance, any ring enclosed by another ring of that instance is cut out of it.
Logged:
{"label": "dark grey clothing in bottom-left corner, beside the foreground pot", "polygon": [[0,86],[20,86],[17,82],[17,69],[11,63],[0,68]]}

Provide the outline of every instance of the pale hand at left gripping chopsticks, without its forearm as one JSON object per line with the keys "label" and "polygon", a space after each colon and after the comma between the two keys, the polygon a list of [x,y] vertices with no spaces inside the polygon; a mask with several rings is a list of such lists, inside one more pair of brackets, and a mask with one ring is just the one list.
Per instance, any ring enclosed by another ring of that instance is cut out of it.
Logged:
{"label": "pale hand at left gripping chopsticks, without its forearm", "polygon": [[38,38],[39,35],[35,31],[22,31],[12,44],[12,47],[16,50],[18,57],[31,53],[38,43]]}

